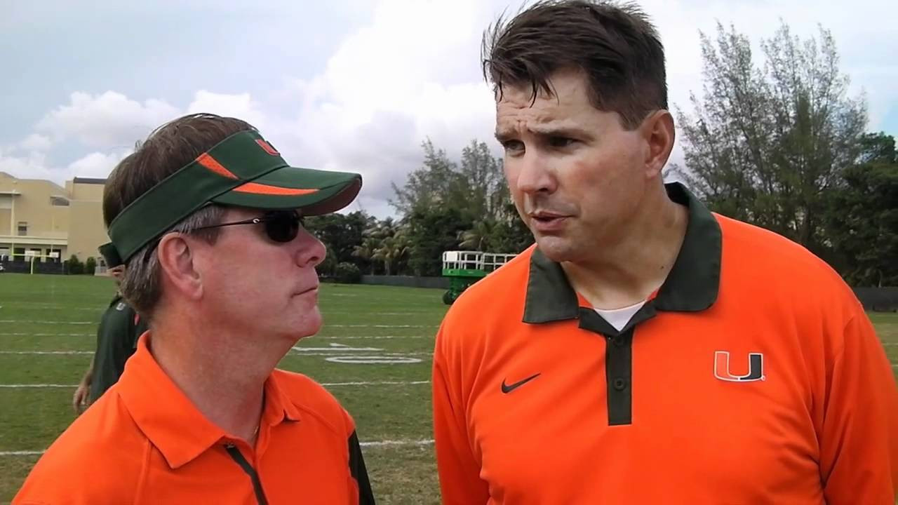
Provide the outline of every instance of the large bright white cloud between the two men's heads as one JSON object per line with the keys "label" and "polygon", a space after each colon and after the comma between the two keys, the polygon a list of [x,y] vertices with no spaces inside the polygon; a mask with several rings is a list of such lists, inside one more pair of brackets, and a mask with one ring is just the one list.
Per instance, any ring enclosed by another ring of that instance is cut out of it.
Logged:
{"label": "large bright white cloud between the two men's heads", "polygon": [[491,143],[495,105],[478,58],[480,31],[497,12],[492,6],[379,4],[321,75],[297,84],[289,145],[321,168],[362,173],[360,202],[383,215],[390,182],[401,184],[420,165],[425,138],[453,157],[473,138]]}

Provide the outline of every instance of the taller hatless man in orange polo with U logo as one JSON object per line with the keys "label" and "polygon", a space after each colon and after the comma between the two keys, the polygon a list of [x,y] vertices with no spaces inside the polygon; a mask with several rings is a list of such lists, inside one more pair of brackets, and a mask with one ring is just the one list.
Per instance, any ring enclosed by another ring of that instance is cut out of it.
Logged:
{"label": "taller hatless man in orange polo with U logo", "polygon": [[823,261],[665,184],[647,16],[533,4],[489,29],[483,63],[536,244],[437,334],[443,501],[894,503],[882,344]]}

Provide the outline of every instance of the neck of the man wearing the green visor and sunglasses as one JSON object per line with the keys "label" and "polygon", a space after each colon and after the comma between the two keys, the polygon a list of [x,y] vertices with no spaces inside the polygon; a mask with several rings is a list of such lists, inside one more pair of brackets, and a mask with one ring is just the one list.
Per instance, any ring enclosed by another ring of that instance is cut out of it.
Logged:
{"label": "neck of the man wearing the green visor and sunglasses", "polygon": [[277,360],[260,359],[258,350],[227,345],[228,339],[220,333],[201,332],[199,327],[159,323],[150,351],[199,412],[225,432],[254,445],[265,381]]}

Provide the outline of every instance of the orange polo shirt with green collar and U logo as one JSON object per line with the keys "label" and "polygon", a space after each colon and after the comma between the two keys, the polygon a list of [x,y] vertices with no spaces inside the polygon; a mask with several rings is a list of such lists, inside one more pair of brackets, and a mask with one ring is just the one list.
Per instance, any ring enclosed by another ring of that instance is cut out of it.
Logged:
{"label": "orange polo shirt with green collar and U logo", "polygon": [[468,288],[433,368],[443,501],[894,505],[898,389],[862,307],[797,244],[711,214],[616,330],[531,248]]}

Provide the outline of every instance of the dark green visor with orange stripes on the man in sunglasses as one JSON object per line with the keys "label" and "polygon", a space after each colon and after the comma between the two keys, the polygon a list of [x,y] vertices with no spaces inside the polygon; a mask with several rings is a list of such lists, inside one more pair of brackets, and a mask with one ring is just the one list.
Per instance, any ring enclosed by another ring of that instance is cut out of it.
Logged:
{"label": "dark green visor with orange stripes on the man in sunglasses", "polygon": [[109,235],[115,253],[125,262],[209,203],[295,208],[303,216],[316,216],[348,206],[361,188],[358,173],[290,166],[257,132],[242,131],[134,200],[112,220]]}

